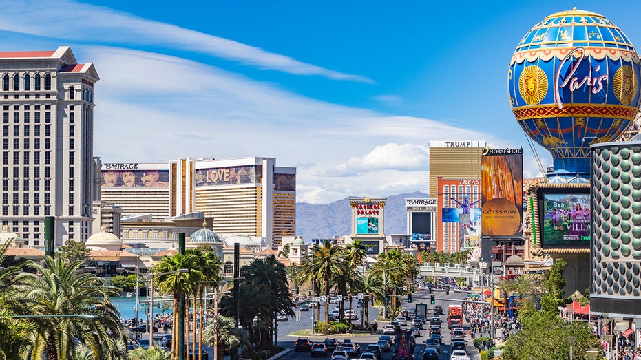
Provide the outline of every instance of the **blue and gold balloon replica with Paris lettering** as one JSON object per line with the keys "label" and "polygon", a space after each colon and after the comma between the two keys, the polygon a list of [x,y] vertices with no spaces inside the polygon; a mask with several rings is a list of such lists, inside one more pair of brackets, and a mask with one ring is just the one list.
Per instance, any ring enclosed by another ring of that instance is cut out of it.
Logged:
{"label": "blue and gold balloon replica with Paris lettering", "polygon": [[615,140],[634,120],[640,72],[628,37],[594,12],[552,14],[523,36],[509,63],[509,103],[552,154],[549,182],[589,183],[589,146]]}

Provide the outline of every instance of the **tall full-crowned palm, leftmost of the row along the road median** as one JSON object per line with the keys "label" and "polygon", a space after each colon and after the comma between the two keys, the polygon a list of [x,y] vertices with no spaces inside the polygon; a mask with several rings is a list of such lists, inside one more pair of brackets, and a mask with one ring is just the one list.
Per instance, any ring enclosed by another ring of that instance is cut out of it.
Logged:
{"label": "tall full-crowned palm, leftmost of the row along the road median", "polygon": [[[330,280],[335,273],[348,272],[346,262],[341,261],[342,248],[333,244],[330,240],[323,240],[322,245],[315,244],[310,253],[306,255],[306,267],[310,269],[313,277],[317,277],[323,282],[323,290],[328,298],[330,294]],[[325,321],[329,319],[329,301],[325,302]]]}

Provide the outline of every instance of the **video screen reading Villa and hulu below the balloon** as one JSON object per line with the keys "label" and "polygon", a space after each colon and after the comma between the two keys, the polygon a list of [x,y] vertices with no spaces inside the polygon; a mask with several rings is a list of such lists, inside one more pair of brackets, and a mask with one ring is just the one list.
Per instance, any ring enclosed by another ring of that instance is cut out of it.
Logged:
{"label": "video screen reading Villa and hulu below the balloon", "polygon": [[589,189],[537,190],[541,247],[590,244]]}

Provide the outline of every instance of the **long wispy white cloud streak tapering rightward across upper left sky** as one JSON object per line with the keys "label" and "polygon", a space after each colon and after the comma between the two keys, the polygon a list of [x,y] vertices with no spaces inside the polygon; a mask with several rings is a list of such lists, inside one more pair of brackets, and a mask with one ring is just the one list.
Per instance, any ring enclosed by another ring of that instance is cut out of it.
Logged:
{"label": "long wispy white cloud streak tapering rightward across upper left sky", "polygon": [[103,45],[145,45],[187,50],[289,74],[374,83],[365,76],[344,74],[303,63],[238,41],[76,1],[0,1],[0,29]]}

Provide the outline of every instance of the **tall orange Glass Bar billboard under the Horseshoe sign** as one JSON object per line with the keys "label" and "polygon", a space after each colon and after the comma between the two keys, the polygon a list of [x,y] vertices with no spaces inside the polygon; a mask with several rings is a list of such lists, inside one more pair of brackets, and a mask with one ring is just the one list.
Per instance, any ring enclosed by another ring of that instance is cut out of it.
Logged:
{"label": "tall orange Glass Bar billboard under the Horseshoe sign", "polygon": [[522,237],[523,149],[483,151],[481,203],[484,236]]}

